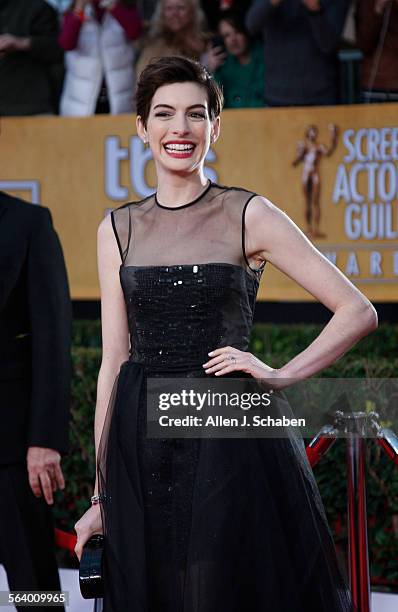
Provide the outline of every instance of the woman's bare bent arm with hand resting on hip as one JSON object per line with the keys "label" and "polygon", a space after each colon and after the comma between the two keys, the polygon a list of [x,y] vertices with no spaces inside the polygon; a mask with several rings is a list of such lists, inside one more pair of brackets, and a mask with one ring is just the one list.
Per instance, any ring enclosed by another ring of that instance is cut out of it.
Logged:
{"label": "woman's bare bent arm with hand resting on hip", "polygon": [[[245,358],[241,351],[226,347],[213,351],[206,371],[218,363],[217,375],[242,370],[256,378],[302,380],[334,363],[376,329],[377,313],[370,301],[313,246],[286,213],[269,200],[256,196],[250,201],[245,236],[246,255],[253,266],[269,261],[334,314],[317,338],[278,370],[250,353],[245,353]],[[224,360],[226,367],[220,370],[224,354],[228,354],[229,360],[235,357],[235,364]]]}

